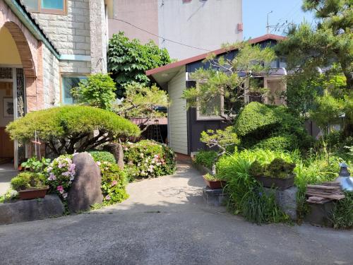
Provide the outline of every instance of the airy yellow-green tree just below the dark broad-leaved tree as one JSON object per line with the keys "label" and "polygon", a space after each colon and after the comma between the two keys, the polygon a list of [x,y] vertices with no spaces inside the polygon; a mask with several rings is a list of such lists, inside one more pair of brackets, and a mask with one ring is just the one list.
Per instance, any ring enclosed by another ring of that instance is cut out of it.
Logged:
{"label": "airy yellow-green tree just below the dark broad-leaved tree", "polygon": [[157,86],[148,88],[139,83],[131,83],[126,86],[124,98],[114,105],[114,112],[126,119],[141,118],[143,132],[148,128],[150,120],[166,116],[159,108],[167,106],[168,95],[164,90]]}

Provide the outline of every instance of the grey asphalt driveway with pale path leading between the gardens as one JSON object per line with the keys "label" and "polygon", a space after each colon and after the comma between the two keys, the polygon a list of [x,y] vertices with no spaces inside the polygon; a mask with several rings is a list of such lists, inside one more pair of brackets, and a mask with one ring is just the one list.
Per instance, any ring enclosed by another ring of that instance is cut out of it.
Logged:
{"label": "grey asphalt driveway with pale path leading between the gardens", "polygon": [[130,199],[90,214],[0,226],[0,264],[352,264],[353,232],[253,225],[205,206],[201,176],[128,186]]}

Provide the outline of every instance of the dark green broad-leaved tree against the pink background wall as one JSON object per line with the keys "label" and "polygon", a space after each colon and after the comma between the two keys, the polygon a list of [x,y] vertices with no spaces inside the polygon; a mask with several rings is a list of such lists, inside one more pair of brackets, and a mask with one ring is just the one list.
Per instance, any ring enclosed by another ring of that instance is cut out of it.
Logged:
{"label": "dark green broad-leaved tree against the pink background wall", "polygon": [[109,40],[108,71],[116,82],[118,96],[122,96],[126,86],[132,82],[149,86],[150,80],[145,71],[170,61],[167,49],[160,49],[152,40],[142,45],[139,40],[129,40],[122,32]]}

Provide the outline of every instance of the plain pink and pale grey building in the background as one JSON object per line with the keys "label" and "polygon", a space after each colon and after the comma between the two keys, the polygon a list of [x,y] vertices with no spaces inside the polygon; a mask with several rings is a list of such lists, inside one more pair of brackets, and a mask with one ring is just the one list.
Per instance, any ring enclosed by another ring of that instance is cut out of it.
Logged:
{"label": "plain pink and pale grey building in the background", "polygon": [[108,0],[109,35],[153,40],[186,59],[243,40],[242,0]]}

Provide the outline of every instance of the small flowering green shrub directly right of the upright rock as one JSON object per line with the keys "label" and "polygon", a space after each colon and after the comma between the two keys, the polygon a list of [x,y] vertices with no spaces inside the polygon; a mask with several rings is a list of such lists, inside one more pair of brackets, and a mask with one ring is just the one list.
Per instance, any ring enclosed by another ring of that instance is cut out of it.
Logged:
{"label": "small flowering green shrub directly right of the upright rock", "polygon": [[118,165],[107,161],[98,163],[102,175],[103,204],[110,205],[124,201],[128,198],[126,193],[126,173]]}

